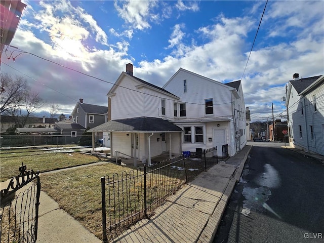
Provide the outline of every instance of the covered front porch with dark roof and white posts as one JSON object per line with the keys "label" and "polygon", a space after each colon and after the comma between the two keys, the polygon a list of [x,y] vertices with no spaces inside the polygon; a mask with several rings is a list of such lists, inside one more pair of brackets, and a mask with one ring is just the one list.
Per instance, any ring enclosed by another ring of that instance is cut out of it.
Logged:
{"label": "covered front porch with dark roof and white posts", "polygon": [[96,128],[90,129],[93,136],[95,132],[109,133],[111,157],[124,157],[141,164],[152,164],[152,158],[161,154],[181,154],[182,129],[170,121],[155,117],[134,117],[107,121]]}

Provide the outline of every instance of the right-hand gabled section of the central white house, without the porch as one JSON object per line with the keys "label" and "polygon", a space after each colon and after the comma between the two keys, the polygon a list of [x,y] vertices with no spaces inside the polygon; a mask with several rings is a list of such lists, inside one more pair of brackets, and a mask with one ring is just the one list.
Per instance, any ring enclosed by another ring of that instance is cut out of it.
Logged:
{"label": "right-hand gabled section of the central white house, without the porch", "polygon": [[246,108],[240,80],[222,84],[180,68],[163,86],[180,99],[167,100],[166,114],[160,114],[182,128],[181,149],[217,146],[222,156],[222,145],[228,144],[233,156],[247,142]]}

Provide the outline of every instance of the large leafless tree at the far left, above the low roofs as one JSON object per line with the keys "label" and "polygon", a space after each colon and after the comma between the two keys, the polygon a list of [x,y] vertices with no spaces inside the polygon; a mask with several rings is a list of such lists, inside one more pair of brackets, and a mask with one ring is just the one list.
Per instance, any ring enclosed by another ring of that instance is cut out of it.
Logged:
{"label": "large leafless tree at the far left, above the low roofs", "polygon": [[1,75],[1,113],[14,117],[17,128],[23,128],[33,112],[44,106],[42,98],[36,92],[31,92],[26,79],[16,76],[13,79],[8,74]]}

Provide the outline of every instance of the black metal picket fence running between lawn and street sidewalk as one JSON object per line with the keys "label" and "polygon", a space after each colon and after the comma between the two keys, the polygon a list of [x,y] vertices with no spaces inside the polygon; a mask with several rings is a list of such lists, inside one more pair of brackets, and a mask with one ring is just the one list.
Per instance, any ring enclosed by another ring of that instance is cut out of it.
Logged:
{"label": "black metal picket fence running between lawn and street sidewalk", "polygon": [[154,210],[184,184],[218,163],[217,147],[167,159],[152,167],[101,178],[103,242]]}

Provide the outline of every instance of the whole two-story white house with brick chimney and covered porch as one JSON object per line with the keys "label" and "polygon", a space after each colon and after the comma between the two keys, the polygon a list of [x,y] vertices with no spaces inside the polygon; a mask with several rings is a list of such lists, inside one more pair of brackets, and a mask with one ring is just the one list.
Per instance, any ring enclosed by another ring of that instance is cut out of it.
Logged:
{"label": "whole two-story white house with brick chimney and covered porch", "polygon": [[240,81],[222,84],[180,68],[160,88],[135,77],[129,63],[107,96],[108,121],[89,132],[110,134],[112,156],[150,163],[164,152],[171,157],[213,146],[222,155],[224,144],[232,156],[246,144]]}

